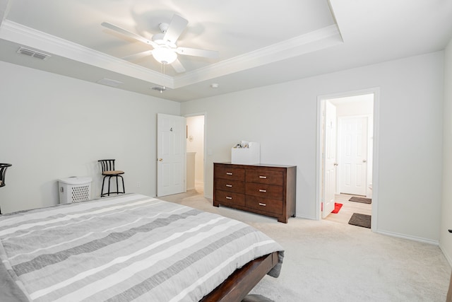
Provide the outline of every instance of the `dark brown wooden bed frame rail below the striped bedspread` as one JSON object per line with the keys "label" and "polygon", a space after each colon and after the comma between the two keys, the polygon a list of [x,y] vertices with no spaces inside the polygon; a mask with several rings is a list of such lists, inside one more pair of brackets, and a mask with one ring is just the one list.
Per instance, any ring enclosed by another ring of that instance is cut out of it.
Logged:
{"label": "dark brown wooden bed frame rail below the striped bedspread", "polygon": [[278,252],[273,252],[248,262],[237,269],[201,302],[237,302],[251,291],[258,282],[278,263]]}

